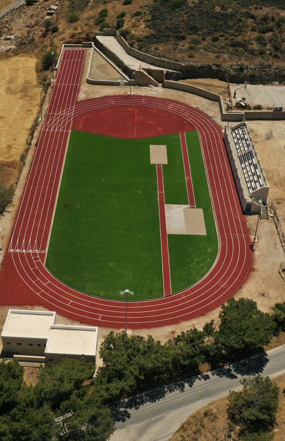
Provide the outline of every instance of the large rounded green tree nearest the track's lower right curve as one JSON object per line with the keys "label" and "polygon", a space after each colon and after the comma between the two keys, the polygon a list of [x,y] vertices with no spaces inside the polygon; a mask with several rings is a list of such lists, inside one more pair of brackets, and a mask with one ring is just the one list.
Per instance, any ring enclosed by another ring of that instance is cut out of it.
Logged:
{"label": "large rounded green tree nearest the track's lower right curve", "polygon": [[260,311],[252,299],[229,299],[219,318],[218,340],[227,352],[260,348],[270,342],[276,328],[273,316]]}

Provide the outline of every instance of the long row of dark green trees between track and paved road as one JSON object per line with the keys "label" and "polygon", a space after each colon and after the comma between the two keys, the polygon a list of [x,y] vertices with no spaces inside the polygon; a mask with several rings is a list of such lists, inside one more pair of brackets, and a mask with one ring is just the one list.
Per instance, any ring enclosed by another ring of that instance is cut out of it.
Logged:
{"label": "long row of dark green trees between track and paved road", "polygon": [[[218,328],[211,321],[202,331],[187,330],[165,344],[152,336],[112,331],[101,345],[103,366],[94,379],[94,365],[84,358],[63,359],[58,365],[41,368],[37,385],[27,386],[22,366],[17,361],[2,361],[0,439],[61,439],[54,418],[73,411],[66,423],[72,430],[70,440],[105,441],[115,430],[114,419],[126,418],[122,407],[151,400],[157,386],[161,387],[156,389],[155,400],[168,388],[183,388],[184,381],[179,380],[187,377],[191,382],[191,375],[200,374],[201,363],[213,369],[252,355],[269,343],[277,323],[284,324],[284,317],[285,303],[276,305],[270,315],[258,310],[251,299],[229,299],[222,306]],[[171,384],[174,379],[176,383]],[[135,392],[144,393],[135,396]],[[234,409],[242,409],[235,392],[230,399]],[[245,418],[244,411],[242,415],[241,410],[235,412]],[[258,421],[261,417],[256,413],[255,418]],[[248,419],[252,420],[252,415]]]}

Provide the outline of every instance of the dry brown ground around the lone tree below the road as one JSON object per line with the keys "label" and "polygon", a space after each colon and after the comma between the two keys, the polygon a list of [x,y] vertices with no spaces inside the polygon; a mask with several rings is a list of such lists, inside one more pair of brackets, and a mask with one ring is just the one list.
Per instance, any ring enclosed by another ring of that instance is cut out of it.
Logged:
{"label": "dry brown ground around the lone tree below the road", "polygon": [[[284,441],[285,433],[285,395],[283,393],[285,375],[273,380],[279,387],[279,412],[273,428],[274,441]],[[228,399],[222,398],[201,407],[192,414],[170,438],[171,441],[214,441],[227,440],[228,434],[238,435],[238,430],[232,432],[233,426],[227,418]],[[236,439],[236,438],[233,438]]]}

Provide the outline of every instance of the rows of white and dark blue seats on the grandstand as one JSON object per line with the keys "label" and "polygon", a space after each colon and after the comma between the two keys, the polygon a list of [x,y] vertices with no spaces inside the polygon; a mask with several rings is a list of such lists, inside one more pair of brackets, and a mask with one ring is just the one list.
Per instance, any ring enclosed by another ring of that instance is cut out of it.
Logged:
{"label": "rows of white and dark blue seats on the grandstand", "polygon": [[255,155],[252,152],[251,144],[248,140],[245,127],[239,127],[238,129],[233,130],[231,133],[237,149],[241,168],[245,176],[245,182],[249,193],[251,193],[257,188],[263,187],[258,165],[255,161]]}

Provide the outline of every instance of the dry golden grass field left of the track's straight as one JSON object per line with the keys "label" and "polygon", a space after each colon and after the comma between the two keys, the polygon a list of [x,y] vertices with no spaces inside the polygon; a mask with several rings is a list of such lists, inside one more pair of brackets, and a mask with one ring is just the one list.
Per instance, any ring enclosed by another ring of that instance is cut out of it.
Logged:
{"label": "dry golden grass field left of the track's straight", "polygon": [[14,56],[0,62],[0,169],[1,181],[6,184],[17,179],[21,155],[40,104],[36,62],[34,56]]}

